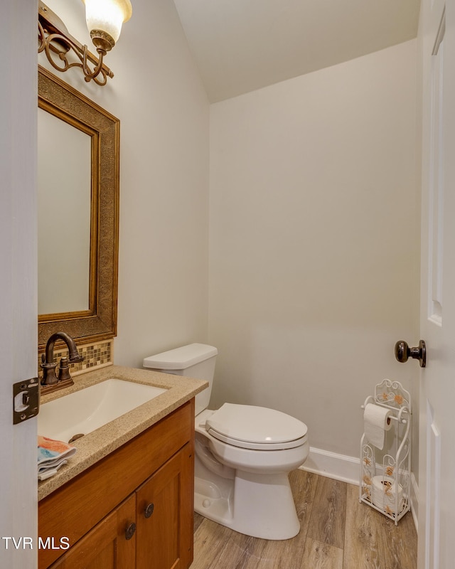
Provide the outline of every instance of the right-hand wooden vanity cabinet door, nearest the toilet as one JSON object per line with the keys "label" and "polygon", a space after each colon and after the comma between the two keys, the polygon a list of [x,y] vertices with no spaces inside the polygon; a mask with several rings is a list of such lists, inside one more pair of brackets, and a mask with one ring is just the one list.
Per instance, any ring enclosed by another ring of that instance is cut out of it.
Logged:
{"label": "right-hand wooden vanity cabinet door, nearest the toilet", "polygon": [[193,461],[188,443],[137,490],[137,569],[187,569],[191,564]]}

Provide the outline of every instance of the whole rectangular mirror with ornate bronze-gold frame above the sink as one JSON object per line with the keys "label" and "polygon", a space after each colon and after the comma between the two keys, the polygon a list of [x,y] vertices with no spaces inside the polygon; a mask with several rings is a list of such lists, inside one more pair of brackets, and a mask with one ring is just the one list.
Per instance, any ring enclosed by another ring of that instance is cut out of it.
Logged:
{"label": "whole rectangular mirror with ornate bronze-gold frame above the sink", "polygon": [[[119,119],[39,65],[38,107],[56,128],[41,122],[38,127],[45,131],[38,136],[38,147],[45,148],[45,164],[38,166],[38,347],[55,331],[84,343],[113,338]],[[80,150],[76,139],[81,139]],[[80,292],[74,292],[81,275]]]}

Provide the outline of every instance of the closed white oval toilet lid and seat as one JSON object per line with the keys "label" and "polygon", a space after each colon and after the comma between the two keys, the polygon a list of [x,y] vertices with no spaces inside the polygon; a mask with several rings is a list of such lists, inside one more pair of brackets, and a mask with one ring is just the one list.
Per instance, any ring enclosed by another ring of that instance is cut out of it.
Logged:
{"label": "closed white oval toilet lid and seat", "polygon": [[237,447],[281,450],[304,443],[307,427],[274,409],[225,403],[205,421],[210,435]]}

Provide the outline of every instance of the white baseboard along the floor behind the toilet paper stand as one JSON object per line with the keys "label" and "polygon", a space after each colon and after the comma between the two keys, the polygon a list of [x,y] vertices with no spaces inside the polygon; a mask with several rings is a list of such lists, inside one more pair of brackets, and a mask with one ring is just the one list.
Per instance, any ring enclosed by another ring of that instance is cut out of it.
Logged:
{"label": "white baseboard along the floor behind the toilet paper stand", "polygon": [[[314,472],[328,478],[359,485],[360,459],[348,457],[346,454],[338,454],[328,450],[310,447],[309,456],[301,465],[301,470]],[[412,519],[417,530],[417,514],[419,511],[419,487],[417,486],[414,473],[411,472],[410,506]]]}

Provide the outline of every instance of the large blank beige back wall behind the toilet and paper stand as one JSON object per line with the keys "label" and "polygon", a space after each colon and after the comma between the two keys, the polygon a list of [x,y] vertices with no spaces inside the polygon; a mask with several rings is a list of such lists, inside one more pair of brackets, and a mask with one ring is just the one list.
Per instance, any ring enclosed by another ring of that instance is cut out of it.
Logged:
{"label": "large blank beige back wall behind the toilet and paper stand", "polygon": [[213,407],[358,456],[375,383],[417,377],[393,353],[418,341],[415,67],[410,41],[211,106]]}

